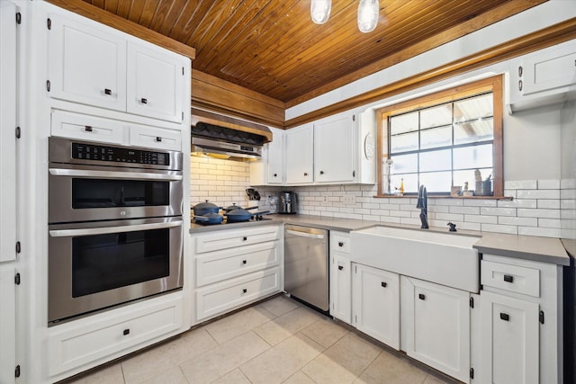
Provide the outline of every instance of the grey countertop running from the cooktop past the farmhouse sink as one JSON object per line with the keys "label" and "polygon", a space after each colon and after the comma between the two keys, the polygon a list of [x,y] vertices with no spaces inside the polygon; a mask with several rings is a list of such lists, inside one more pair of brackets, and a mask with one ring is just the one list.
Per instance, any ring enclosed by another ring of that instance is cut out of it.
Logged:
{"label": "grey countertop running from the cooktop past the farmhouse sink", "polygon": [[[400,224],[389,224],[380,221],[329,218],[324,216],[310,215],[266,215],[266,220],[202,226],[192,224],[191,234],[209,232],[213,230],[247,228],[252,226],[270,225],[270,224],[294,224],[305,227],[322,228],[329,230],[338,230],[349,232],[361,228],[372,227],[375,225],[419,229],[416,226],[407,226]],[[446,228],[422,229],[430,231],[447,232]],[[559,265],[570,265],[570,257],[566,253],[562,242],[558,238],[551,237],[530,237],[519,235],[505,235],[490,232],[476,232],[469,230],[458,230],[460,234],[480,236],[481,238],[473,245],[481,254],[502,255],[518,259],[532,260],[541,263],[555,263]],[[457,234],[455,234],[457,236]]]}

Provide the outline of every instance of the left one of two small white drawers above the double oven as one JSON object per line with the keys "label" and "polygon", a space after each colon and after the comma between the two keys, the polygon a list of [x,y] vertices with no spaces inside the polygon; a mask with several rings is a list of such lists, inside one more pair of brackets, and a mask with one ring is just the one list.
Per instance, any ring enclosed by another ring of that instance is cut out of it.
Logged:
{"label": "left one of two small white drawers above the double oven", "polygon": [[52,112],[52,136],[121,144],[124,127],[120,121],[71,112]]}

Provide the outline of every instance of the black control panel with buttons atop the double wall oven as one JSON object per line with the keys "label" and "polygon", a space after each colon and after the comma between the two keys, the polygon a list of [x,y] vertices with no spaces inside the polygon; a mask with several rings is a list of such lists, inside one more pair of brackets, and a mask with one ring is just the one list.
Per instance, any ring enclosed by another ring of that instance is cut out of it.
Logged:
{"label": "black control panel with buttons atop the double wall oven", "polygon": [[170,165],[170,156],[167,153],[85,143],[72,143],[72,158],[116,163]]}

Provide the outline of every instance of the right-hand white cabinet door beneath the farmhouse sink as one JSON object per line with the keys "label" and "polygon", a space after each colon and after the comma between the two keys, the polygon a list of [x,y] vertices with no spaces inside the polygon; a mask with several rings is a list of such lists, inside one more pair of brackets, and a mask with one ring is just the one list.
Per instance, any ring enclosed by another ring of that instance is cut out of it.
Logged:
{"label": "right-hand white cabinet door beneath the farmhouse sink", "polygon": [[[470,293],[401,277],[405,352],[458,380],[470,380]],[[404,313],[406,311],[406,313]]]}

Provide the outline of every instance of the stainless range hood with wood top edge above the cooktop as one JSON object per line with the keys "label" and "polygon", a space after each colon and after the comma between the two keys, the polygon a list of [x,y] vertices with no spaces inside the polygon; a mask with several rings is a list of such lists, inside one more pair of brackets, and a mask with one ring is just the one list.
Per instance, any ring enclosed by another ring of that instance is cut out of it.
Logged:
{"label": "stainless range hood with wood top edge above the cooktop", "polygon": [[[220,120],[217,120],[220,119]],[[270,141],[270,129],[211,112],[193,110],[192,155],[235,161],[254,161]],[[240,122],[240,124],[238,124]],[[266,129],[266,130],[265,130]]]}

